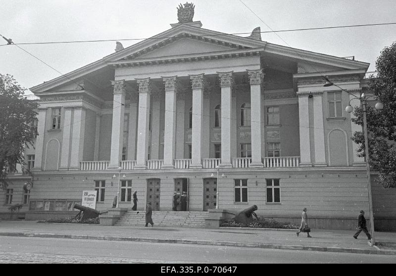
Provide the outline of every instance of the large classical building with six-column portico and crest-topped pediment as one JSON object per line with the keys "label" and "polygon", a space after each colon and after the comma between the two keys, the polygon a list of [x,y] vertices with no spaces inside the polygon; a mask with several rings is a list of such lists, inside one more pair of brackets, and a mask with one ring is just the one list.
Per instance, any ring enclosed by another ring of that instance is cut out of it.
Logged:
{"label": "large classical building with six-column portico and crest-topped pediment", "polygon": [[[104,211],[120,177],[120,208],[137,190],[138,210],[172,210],[176,191],[187,211],[255,204],[298,221],[307,207],[312,227],[345,229],[359,210],[369,217],[352,95],[323,87],[327,76],[360,96],[369,63],[264,42],[259,28],[203,29],[193,7],[169,30],[30,89],[40,98],[32,173],[10,175],[1,211],[23,202],[27,219],[67,215],[83,190],[97,190]],[[394,223],[395,200],[380,201],[392,191],[373,186],[376,222]]]}

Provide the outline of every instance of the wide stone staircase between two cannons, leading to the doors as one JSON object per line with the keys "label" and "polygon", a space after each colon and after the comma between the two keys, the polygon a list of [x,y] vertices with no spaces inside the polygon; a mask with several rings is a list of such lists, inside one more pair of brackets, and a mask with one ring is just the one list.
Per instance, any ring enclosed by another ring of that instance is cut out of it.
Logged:
{"label": "wide stone staircase between two cannons, leading to the doors", "polygon": [[[209,218],[206,211],[153,211],[151,215],[154,226],[205,227],[205,219]],[[145,211],[128,210],[115,226],[145,226]]]}

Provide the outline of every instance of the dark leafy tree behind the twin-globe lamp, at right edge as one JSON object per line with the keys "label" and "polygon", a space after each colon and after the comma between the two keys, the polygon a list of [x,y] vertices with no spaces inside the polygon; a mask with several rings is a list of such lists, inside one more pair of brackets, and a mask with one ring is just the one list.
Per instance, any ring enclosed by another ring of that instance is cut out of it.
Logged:
{"label": "dark leafy tree behind the twin-globe lamp, at right edge", "polygon": [[[384,108],[367,105],[369,164],[379,173],[377,183],[396,188],[396,42],[381,51],[376,70],[378,76],[369,78],[369,91]],[[354,115],[352,121],[362,126],[362,108],[356,108]],[[365,156],[363,133],[356,132],[352,140],[359,144],[358,155]]]}

